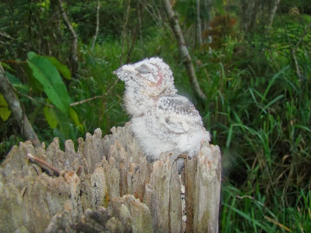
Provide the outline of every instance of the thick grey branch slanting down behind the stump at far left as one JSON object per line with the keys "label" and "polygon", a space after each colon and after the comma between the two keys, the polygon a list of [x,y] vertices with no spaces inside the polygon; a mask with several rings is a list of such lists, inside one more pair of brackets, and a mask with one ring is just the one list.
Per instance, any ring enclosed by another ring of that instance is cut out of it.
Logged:
{"label": "thick grey branch slanting down behind the stump at far left", "polygon": [[26,138],[30,139],[35,147],[41,146],[41,142],[35,133],[35,130],[31,126],[28,118],[25,115],[21,107],[21,103],[16,98],[12,85],[10,84],[7,76],[4,73],[3,67],[0,63],[0,90],[3,94],[8,106],[10,107],[16,121],[21,128],[21,134]]}

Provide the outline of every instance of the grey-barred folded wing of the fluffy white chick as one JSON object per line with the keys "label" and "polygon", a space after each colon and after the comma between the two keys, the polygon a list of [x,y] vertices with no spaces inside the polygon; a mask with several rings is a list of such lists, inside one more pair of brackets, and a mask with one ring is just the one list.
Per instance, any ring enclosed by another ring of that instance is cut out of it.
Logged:
{"label": "grey-barred folded wing of the fluffy white chick", "polygon": [[182,134],[203,127],[200,114],[193,103],[180,95],[160,96],[156,115],[167,133]]}

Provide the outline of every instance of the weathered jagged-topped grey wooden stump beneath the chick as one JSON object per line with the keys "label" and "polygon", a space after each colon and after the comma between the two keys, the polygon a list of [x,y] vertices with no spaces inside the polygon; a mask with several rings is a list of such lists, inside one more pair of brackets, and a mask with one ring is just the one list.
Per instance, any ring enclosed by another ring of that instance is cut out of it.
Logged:
{"label": "weathered jagged-topped grey wooden stump beneath the chick", "polygon": [[100,129],[87,133],[77,152],[71,140],[60,150],[57,138],[46,149],[12,147],[0,166],[1,232],[182,232],[181,181],[186,232],[218,232],[219,147],[202,141],[180,179],[168,153],[147,162],[129,124],[104,138]]}

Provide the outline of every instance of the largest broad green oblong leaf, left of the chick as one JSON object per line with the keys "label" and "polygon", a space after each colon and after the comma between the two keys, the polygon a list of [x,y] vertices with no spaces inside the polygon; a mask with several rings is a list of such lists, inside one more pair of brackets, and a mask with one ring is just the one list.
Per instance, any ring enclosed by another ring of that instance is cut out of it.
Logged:
{"label": "largest broad green oblong leaf, left of the chick", "polygon": [[[31,54],[28,53],[28,57]],[[34,55],[27,60],[33,76],[42,84],[49,100],[61,111],[68,112],[70,98],[66,85],[53,64],[45,57]]]}

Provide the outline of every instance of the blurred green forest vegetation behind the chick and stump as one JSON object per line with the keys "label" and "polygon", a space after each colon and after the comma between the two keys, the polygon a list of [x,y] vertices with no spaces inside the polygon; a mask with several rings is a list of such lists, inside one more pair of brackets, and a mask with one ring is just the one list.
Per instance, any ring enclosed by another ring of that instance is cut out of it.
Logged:
{"label": "blurred green forest vegetation behind the chick and stump", "polygon": [[[1,64],[40,141],[77,143],[98,127],[105,135],[124,126],[124,85],[112,72],[162,57],[222,150],[220,232],[311,232],[309,0],[171,0],[205,100],[190,85],[162,1],[60,2],[0,3]],[[52,62],[74,103],[66,114],[36,80],[31,51],[69,68]],[[0,97],[3,160],[25,138]]]}

